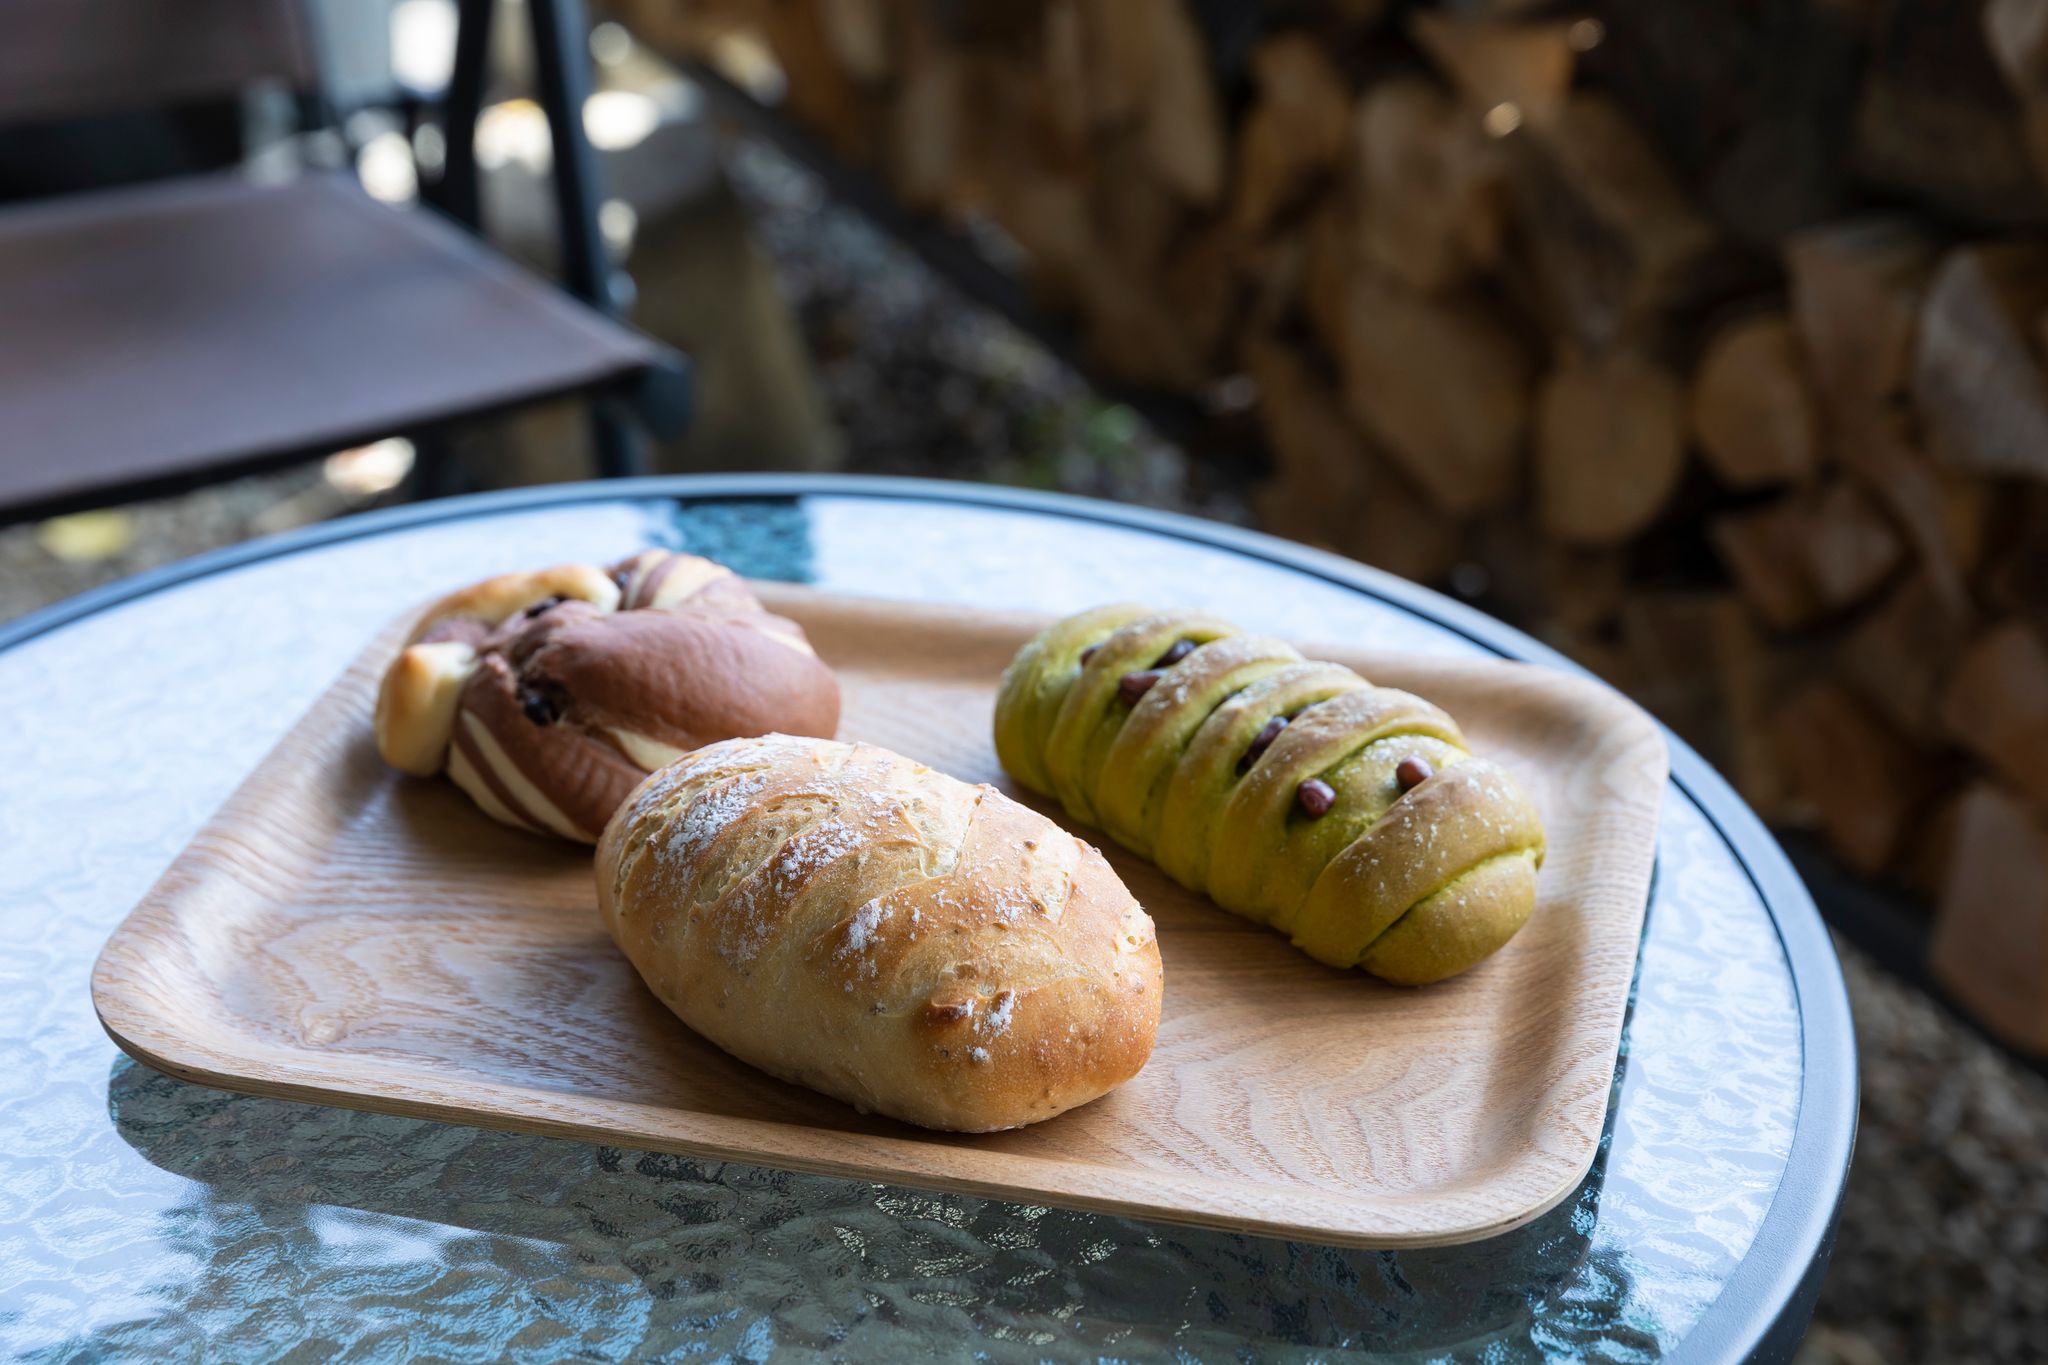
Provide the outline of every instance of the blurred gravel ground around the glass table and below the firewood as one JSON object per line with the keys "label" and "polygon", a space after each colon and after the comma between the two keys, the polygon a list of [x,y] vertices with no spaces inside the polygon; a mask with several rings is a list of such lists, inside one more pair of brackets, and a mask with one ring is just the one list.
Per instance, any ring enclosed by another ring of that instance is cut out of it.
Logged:
{"label": "blurred gravel ground around the glass table and below the firewood", "polygon": [[[848,467],[993,479],[1243,520],[1239,489],[973,309],[815,182],[743,143],[733,180],[848,432]],[[346,510],[317,471],[131,510],[131,542],[66,561],[0,530],[0,620],[156,563]],[[1843,945],[1864,1113],[1802,1363],[2048,1361],[2048,1081]]]}

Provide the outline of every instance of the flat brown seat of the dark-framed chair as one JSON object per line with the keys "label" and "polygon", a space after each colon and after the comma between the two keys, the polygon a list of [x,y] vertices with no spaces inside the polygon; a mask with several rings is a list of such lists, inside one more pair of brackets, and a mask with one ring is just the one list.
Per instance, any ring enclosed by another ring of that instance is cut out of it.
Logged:
{"label": "flat brown seat of the dark-framed chair", "polygon": [[659,356],[340,174],[45,201],[0,213],[0,508],[180,487]]}

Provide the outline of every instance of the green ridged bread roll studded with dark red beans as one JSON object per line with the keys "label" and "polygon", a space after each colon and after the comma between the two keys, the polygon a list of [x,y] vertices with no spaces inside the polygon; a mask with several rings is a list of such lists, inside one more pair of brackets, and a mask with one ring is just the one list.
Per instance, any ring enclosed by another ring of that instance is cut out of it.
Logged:
{"label": "green ridged bread roll studded with dark red beans", "polygon": [[1536,808],[1456,720],[1200,612],[1104,606],[1047,626],[1004,671],[995,753],[1331,966],[1444,980],[1536,905]]}

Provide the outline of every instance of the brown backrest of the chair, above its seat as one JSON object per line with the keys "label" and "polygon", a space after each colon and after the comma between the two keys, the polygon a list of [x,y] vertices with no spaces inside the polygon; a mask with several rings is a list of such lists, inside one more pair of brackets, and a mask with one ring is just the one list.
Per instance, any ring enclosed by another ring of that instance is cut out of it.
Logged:
{"label": "brown backrest of the chair, above its seat", "polygon": [[299,0],[0,0],[0,125],[313,90]]}

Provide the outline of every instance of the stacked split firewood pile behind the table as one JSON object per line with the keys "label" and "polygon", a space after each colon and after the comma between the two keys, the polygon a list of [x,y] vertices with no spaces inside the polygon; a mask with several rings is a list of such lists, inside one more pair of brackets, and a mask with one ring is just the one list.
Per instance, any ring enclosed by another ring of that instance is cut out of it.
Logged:
{"label": "stacked split firewood pile behind the table", "polygon": [[2048,1050],[2048,4],[612,8],[1255,395],[1270,530],[1481,587]]}

